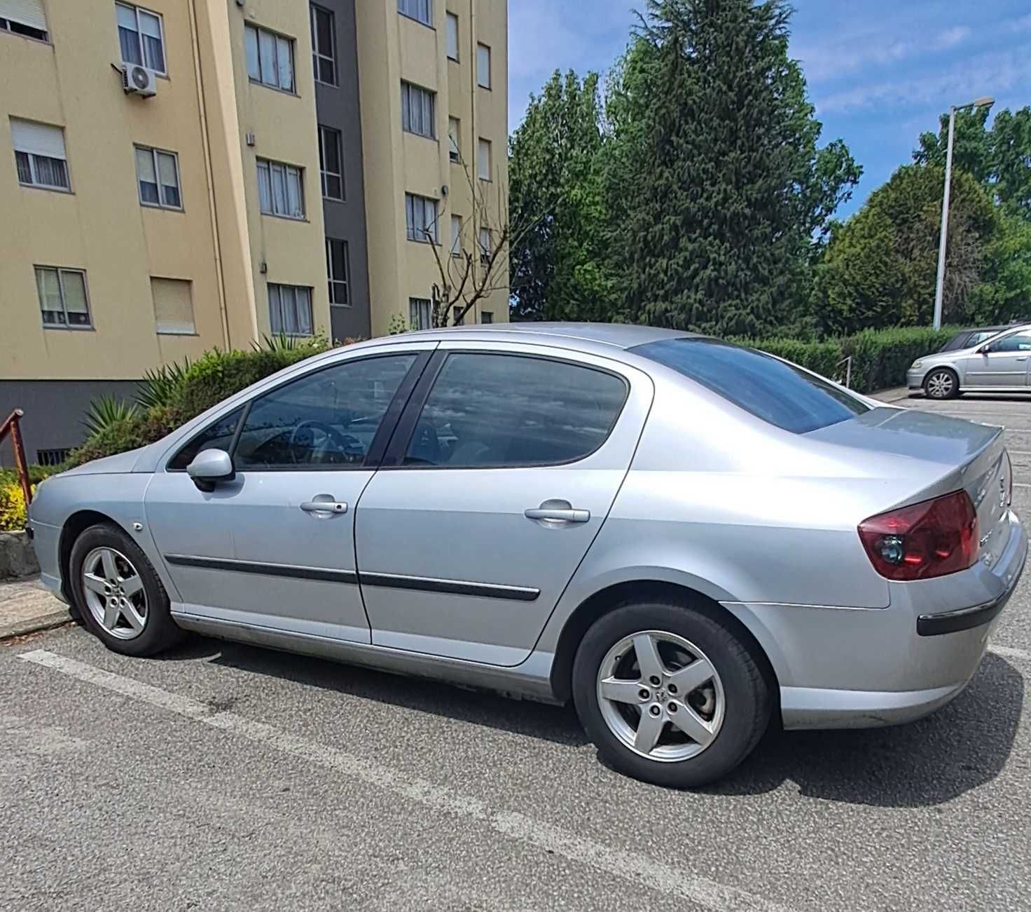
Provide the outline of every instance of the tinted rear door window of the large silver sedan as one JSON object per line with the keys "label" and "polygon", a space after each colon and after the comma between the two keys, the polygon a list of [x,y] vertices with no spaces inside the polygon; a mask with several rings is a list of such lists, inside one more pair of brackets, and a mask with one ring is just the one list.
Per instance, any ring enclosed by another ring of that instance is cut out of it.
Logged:
{"label": "tinted rear door window of the large silver sedan", "polygon": [[623,378],[519,355],[455,353],[430,390],[405,465],[490,468],[583,459],[626,401]]}

